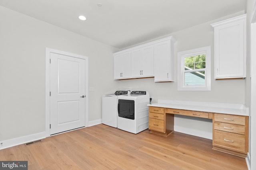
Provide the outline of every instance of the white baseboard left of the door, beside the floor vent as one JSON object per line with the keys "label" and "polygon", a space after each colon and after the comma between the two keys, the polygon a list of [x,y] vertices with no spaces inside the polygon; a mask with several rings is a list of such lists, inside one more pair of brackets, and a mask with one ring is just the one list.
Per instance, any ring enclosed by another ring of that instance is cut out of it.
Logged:
{"label": "white baseboard left of the door, beside the floor vent", "polygon": [[36,141],[39,139],[44,139],[45,137],[46,137],[45,132],[41,132],[41,133],[36,133],[33,135],[27,135],[27,136],[23,136],[23,137],[14,138],[14,139],[9,139],[6,141],[0,141],[0,150],[6,149],[9,147],[14,147],[16,145],[28,143],[31,141]]}

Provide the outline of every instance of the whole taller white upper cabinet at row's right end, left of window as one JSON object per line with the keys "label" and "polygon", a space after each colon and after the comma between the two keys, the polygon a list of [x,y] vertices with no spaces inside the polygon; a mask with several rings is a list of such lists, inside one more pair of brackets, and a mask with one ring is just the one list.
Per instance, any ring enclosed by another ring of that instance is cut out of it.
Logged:
{"label": "whole taller white upper cabinet at row's right end, left of window", "polygon": [[174,81],[174,43],[173,37],[167,37],[154,43],[155,82]]}

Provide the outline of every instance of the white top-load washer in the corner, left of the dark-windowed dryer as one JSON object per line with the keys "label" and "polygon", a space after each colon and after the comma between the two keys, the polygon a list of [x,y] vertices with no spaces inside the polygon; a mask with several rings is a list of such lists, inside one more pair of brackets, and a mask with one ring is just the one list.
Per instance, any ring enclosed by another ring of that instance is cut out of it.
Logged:
{"label": "white top-load washer in the corner, left of the dark-windowed dryer", "polygon": [[128,94],[128,91],[116,91],[114,94],[102,96],[102,123],[108,126],[117,127],[117,105],[118,96]]}

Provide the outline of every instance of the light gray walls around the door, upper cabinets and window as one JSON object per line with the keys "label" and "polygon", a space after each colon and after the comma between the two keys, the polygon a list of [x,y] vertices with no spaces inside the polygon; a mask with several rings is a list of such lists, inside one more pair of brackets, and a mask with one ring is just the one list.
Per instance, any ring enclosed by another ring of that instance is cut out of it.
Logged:
{"label": "light gray walls around the door, upper cabinets and window", "polygon": [[[154,102],[158,99],[238,104],[245,102],[245,80],[214,80],[214,33],[210,24],[216,21],[170,34],[177,39],[176,64],[178,51],[211,45],[212,90],[209,92],[177,91],[177,82],[155,83],[154,78],[113,80],[112,52],[119,51],[118,49],[1,6],[0,21],[0,141],[45,130],[46,47],[89,58],[89,86],[95,88],[95,91],[89,92],[89,121],[101,119],[102,94],[122,89],[147,90],[154,97]],[[177,76],[177,68],[175,70]],[[193,123],[191,121],[193,120],[186,117],[176,119],[181,126],[186,126],[187,122]],[[195,124],[200,123],[193,125]],[[205,133],[208,133],[211,131],[210,124],[206,121],[195,128],[207,129]]]}

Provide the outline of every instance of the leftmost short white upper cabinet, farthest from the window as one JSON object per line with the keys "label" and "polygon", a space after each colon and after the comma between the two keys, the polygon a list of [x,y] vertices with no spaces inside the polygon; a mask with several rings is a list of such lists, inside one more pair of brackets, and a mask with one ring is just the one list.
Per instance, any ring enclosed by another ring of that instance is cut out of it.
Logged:
{"label": "leftmost short white upper cabinet, farthest from the window", "polygon": [[114,54],[114,79],[127,79],[131,76],[130,51]]}

